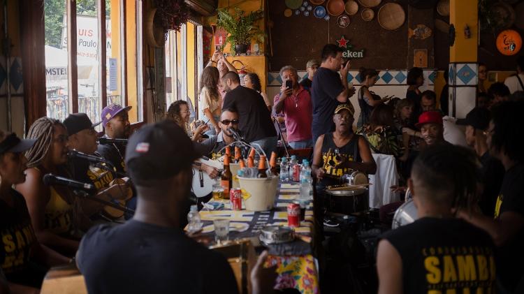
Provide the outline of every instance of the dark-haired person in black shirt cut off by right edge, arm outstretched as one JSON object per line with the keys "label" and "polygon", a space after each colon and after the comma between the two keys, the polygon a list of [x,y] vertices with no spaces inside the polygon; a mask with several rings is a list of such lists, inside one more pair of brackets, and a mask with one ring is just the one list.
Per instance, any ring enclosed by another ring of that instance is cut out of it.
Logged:
{"label": "dark-haired person in black shirt cut off by right edge, arm outstretched", "polygon": [[486,142],[490,154],[506,170],[495,203],[495,219],[480,212],[460,211],[458,215],[493,237],[500,292],[524,293],[524,102],[501,102],[491,110]]}

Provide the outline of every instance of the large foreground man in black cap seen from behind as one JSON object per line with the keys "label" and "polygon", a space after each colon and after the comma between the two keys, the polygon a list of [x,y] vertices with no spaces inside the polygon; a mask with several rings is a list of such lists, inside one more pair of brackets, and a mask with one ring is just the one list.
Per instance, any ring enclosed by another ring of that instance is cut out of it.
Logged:
{"label": "large foreground man in black cap seen from behind", "polygon": [[224,256],[180,229],[198,156],[174,122],[140,128],[126,147],[138,207],[121,226],[89,230],[77,264],[89,293],[238,293]]}

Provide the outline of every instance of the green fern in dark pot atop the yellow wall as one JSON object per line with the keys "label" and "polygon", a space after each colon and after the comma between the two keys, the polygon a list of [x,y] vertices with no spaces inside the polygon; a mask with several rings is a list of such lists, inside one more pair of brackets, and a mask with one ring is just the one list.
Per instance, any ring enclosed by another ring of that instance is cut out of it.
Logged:
{"label": "green fern in dark pot atop the yellow wall", "polygon": [[231,44],[231,51],[234,54],[247,52],[247,47],[252,39],[259,42],[264,41],[264,34],[258,26],[254,24],[256,20],[263,17],[262,10],[252,11],[244,15],[244,11],[235,8],[235,13],[231,15],[228,9],[218,9],[217,25],[228,32],[226,43]]}

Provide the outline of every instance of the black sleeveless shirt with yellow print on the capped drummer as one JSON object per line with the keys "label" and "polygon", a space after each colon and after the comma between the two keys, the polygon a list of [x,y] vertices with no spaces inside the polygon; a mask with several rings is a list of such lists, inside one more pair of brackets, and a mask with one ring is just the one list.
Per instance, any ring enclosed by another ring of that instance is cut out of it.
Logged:
{"label": "black sleeveless shirt with yellow print on the capped drummer", "polygon": [[[356,161],[362,162],[361,153],[358,151],[358,138],[360,135],[353,135],[353,138],[347,142],[346,145],[342,147],[337,147],[335,141],[333,141],[333,133],[326,133],[322,141],[322,161],[321,168],[324,168],[326,175],[333,175],[335,177],[342,177],[342,175],[351,172],[351,168],[334,168],[328,163],[333,161],[335,166],[338,161],[336,159],[335,153],[338,151],[339,156],[342,158],[342,161]],[[339,181],[330,177],[323,177],[321,184],[324,186],[330,186],[339,184]]]}

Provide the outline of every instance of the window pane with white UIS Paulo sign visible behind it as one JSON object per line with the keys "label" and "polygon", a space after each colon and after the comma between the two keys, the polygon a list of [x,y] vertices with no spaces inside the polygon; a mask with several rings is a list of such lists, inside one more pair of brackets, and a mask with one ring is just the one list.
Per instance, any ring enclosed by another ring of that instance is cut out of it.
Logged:
{"label": "window pane with white UIS Paulo sign visible behind it", "polygon": [[[99,122],[101,111],[100,54],[96,0],[77,0],[76,13],[78,112],[86,113],[92,122]],[[101,126],[97,128],[97,131],[101,131]]]}

